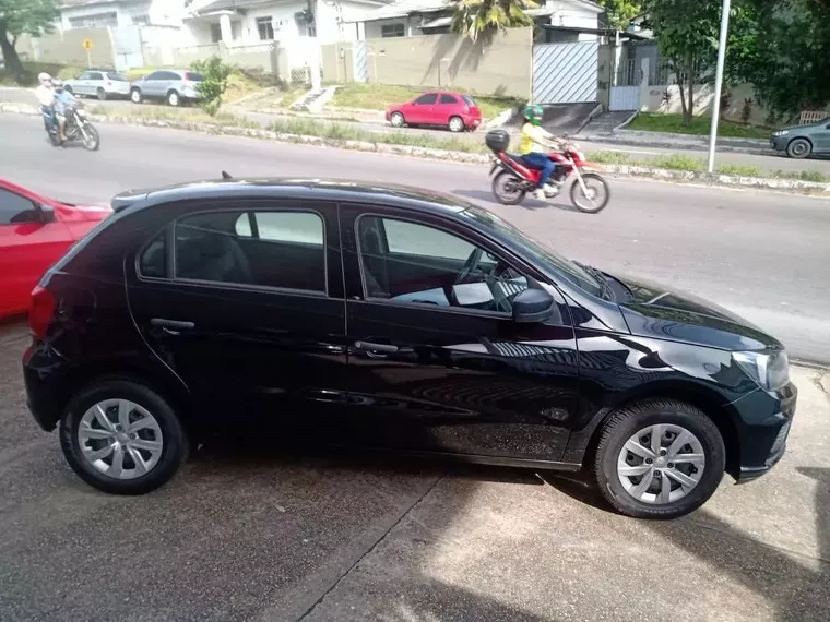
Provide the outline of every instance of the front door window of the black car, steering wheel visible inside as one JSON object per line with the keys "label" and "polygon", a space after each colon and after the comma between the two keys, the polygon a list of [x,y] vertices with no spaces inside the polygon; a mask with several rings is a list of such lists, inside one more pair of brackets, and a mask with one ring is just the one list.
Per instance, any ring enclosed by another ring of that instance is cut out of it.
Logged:
{"label": "front door window of the black car, steering wheel visible inside", "polygon": [[442,229],[377,216],[357,229],[369,299],[509,314],[529,287],[506,262]]}

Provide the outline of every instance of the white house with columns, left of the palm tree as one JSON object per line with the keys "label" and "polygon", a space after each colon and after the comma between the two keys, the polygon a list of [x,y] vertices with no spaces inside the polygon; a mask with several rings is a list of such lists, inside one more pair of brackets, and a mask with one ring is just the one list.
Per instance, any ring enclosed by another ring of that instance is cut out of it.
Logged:
{"label": "white house with columns, left of the palm tree", "polygon": [[201,0],[185,20],[189,45],[317,45],[358,38],[355,20],[389,0]]}

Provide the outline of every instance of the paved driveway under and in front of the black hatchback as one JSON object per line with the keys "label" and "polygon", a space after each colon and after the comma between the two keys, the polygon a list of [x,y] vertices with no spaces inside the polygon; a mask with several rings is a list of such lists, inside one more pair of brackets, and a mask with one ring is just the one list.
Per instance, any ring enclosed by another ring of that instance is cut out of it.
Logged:
{"label": "paved driveway under and in front of the black hatchback", "polygon": [[[24,406],[0,326],[0,620],[826,622],[830,396],[801,390],[768,477],[673,523],[580,480],[203,448],[166,488],[98,493]],[[830,387],[830,378],[823,376]]]}

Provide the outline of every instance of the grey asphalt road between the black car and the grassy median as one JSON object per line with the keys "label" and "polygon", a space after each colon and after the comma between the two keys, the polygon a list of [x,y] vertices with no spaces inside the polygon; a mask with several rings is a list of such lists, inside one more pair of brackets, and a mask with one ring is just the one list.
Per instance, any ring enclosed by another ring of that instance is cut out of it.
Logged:
{"label": "grey asphalt road between the black car and the grassy median", "polygon": [[55,149],[37,118],[0,116],[0,174],[58,199],[108,202],[124,189],[245,176],[401,182],[484,204],[573,259],[690,290],[830,362],[830,202],[769,191],[618,179],[598,215],[529,200],[494,204],[483,166],[102,125],[102,149]]}

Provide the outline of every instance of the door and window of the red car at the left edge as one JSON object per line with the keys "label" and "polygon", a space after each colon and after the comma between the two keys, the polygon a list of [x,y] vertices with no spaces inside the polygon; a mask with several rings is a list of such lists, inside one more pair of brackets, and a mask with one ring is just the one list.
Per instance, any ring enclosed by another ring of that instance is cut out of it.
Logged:
{"label": "door and window of the red car at the left edge", "polygon": [[[44,216],[49,214],[49,218]],[[32,289],[70,247],[72,238],[51,212],[0,188],[0,315],[28,307]]]}

